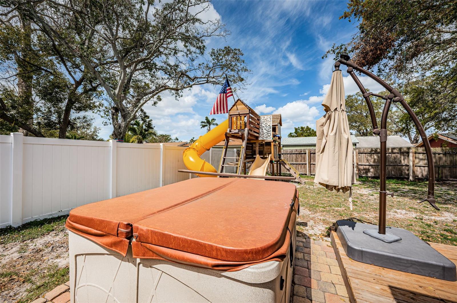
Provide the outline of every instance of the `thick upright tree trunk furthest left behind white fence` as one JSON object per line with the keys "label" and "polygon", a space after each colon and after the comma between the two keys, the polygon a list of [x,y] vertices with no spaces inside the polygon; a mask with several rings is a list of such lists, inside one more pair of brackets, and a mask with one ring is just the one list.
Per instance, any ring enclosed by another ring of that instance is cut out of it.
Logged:
{"label": "thick upright tree trunk furthest left behind white fence", "polygon": [[[21,102],[21,111],[23,121],[33,128],[33,97],[32,97],[32,67],[27,62],[31,62],[33,56],[32,50],[32,27],[30,21],[19,14],[21,30],[24,35],[23,44],[21,45],[21,58],[16,58],[17,63],[17,91]],[[21,128],[21,133],[28,132]]]}

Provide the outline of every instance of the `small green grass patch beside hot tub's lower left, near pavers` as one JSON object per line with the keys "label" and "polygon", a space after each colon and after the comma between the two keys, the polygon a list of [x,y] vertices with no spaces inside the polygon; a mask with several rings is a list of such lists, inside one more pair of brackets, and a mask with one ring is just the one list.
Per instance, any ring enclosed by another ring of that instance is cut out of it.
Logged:
{"label": "small green grass patch beside hot tub's lower left, near pavers", "polygon": [[44,272],[36,275],[36,271],[27,273],[25,278],[31,284],[27,289],[27,295],[19,299],[18,303],[31,302],[35,298],[43,296],[46,292],[51,291],[54,287],[64,284],[68,281],[69,268],[59,268],[57,265],[51,265],[44,269]]}

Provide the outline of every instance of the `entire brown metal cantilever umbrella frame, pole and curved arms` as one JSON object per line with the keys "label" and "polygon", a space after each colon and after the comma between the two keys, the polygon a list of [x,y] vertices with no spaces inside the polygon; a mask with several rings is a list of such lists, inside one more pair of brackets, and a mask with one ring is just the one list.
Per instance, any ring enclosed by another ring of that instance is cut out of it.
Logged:
{"label": "entire brown metal cantilever umbrella frame, pole and curved arms", "polygon": [[[413,122],[416,126],[416,128],[419,130],[420,138],[422,138],[422,142],[424,142],[424,147],[425,147],[425,154],[427,155],[427,162],[428,162],[428,172],[429,172],[429,178],[428,178],[428,194],[427,198],[425,198],[420,202],[429,202],[432,207],[435,209],[439,210],[439,208],[436,206],[436,201],[435,201],[435,168],[433,165],[433,157],[432,157],[432,152],[430,148],[430,142],[427,139],[427,136],[425,134],[424,128],[420,124],[419,119],[409,107],[408,103],[404,100],[404,97],[400,92],[396,89],[394,89],[392,86],[388,85],[384,80],[379,78],[377,75],[369,72],[368,70],[358,66],[357,64],[353,63],[350,61],[350,57],[346,54],[342,54],[341,58],[335,63],[335,70],[339,70],[341,64],[344,64],[348,67],[347,73],[351,75],[352,79],[356,82],[356,85],[359,87],[362,96],[364,97],[365,101],[367,101],[367,106],[368,106],[368,111],[370,112],[370,117],[372,120],[372,126],[373,126],[373,134],[379,136],[379,141],[381,143],[381,161],[380,161],[380,174],[379,174],[379,179],[380,179],[380,189],[379,189],[379,225],[378,225],[378,231],[377,233],[373,233],[373,231],[369,232],[368,234],[378,238],[378,239],[383,239],[390,241],[396,241],[399,239],[392,238],[390,235],[386,235],[386,196],[387,195],[392,195],[393,197],[393,192],[387,192],[386,191],[386,155],[387,155],[387,116],[389,113],[390,106],[392,102],[399,102],[406,112],[409,114],[409,116],[413,119]],[[375,80],[377,83],[382,85],[386,90],[388,90],[389,94],[387,96],[381,96],[374,94],[372,92],[367,92],[365,87],[362,85],[360,82],[359,78],[357,78],[357,75],[355,74],[354,71],[358,71],[362,74],[366,74],[368,77],[372,78]],[[373,105],[370,100],[370,96],[377,96],[380,98],[383,98],[386,102],[384,104],[384,109],[383,113],[381,116],[381,128],[378,128],[377,122],[376,122],[376,116],[374,113]],[[380,234],[379,237],[376,234]],[[389,239],[390,238],[390,239]],[[390,242],[389,241],[389,242]]]}

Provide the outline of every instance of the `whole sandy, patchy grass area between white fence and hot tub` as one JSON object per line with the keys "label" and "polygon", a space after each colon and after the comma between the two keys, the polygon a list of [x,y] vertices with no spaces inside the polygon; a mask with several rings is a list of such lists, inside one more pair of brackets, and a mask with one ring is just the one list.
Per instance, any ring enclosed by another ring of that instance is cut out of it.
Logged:
{"label": "whole sandy, patchy grass area between white fence and hot tub", "polygon": [[66,218],[0,229],[0,302],[31,302],[68,281]]}

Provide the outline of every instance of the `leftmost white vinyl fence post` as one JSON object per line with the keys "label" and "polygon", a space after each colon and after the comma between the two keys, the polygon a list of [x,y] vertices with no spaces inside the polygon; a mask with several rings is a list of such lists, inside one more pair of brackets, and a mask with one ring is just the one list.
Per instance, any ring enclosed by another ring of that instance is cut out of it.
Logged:
{"label": "leftmost white vinyl fence post", "polygon": [[11,133],[11,225],[22,224],[22,161],[24,135]]}

